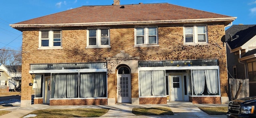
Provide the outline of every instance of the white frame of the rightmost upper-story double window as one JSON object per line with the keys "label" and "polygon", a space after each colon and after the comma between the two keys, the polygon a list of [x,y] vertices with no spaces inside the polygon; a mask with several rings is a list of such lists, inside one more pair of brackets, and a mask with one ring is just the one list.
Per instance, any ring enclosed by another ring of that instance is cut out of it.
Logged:
{"label": "white frame of the rightmost upper-story double window", "polygon": [[[205,33],[198,33],[198,27],[205,27]],[[186,42],[186,28],[192,28],[193,33],[190,34],[193,36],[193,42]],[[208,29],[207,25],[194,25],[194,26],[184,26],[183,27],[184,35],[184,45],[207,45],[208,44]],[[205,35],[205,42],[198,41],[198,35]]]}

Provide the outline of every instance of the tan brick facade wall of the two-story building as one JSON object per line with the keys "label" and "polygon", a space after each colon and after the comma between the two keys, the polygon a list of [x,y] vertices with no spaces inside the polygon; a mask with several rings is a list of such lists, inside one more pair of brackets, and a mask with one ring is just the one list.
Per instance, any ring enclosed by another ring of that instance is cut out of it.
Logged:
{"label": "tan brick facade wall of the two-story building", "polygon": [[[86,28],[62,30],[63,49],[38,50],[39,30],[23,31],[21,100],[31,100],[30,64],[106,62],[107,57],[113,57],[120,50],[140,57],[139,61],[219,59],[221,95],[228,95],[226,48],[221,41],[225,35],[224,25],[208,25],[208,45],[196,46],[183,46],[183,26],[158,27],[159,47],[134,47],[134,28],[111,28],[111,48],[86,49],[86,32]],[[138,98],[138,75],[132,74],[131,79],[132,98]],[[116,75],[110,73],[108,98],[116,98]]]}

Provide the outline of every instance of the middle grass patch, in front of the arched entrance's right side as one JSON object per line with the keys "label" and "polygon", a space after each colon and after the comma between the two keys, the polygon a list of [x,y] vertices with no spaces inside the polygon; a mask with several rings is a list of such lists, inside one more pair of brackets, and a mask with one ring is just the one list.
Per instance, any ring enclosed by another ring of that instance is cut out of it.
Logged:
{"label": "middle grass patch, in front of the arched entrance's right side", "polygon": [[168,107],[156,108],[133,108],[132,113],[135,115],[174,115],[172,110]]}

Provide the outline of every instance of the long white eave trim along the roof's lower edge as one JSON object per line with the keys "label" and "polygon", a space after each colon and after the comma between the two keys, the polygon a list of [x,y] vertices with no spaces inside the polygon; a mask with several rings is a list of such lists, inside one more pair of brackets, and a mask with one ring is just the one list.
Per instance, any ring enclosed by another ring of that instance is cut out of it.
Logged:
{"label": "long white eave trim along the roof's lower edge", "polygon": [[166,23],[196,23],[196,22],[225,22],[233,21],[237,17],[228,18],[203,18],[182,20],[154,20],[154,21],[129,21],[129,22],[92,22],[92,23],[67,23],[67,24],[10,24],[12,28],[24,27],[62,27],[62,26],[109,26],[109,25],[131,25],[131,24],[166,24]]}

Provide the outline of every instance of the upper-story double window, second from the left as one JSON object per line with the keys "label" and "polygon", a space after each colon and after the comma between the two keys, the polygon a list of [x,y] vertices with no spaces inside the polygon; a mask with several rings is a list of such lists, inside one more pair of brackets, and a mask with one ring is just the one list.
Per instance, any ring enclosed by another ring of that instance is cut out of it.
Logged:
{"label": "upper-story double window, second from the left", "polygon": [[109,48],[109,29],[89,29],[86,48]]}

